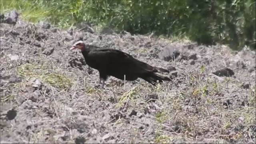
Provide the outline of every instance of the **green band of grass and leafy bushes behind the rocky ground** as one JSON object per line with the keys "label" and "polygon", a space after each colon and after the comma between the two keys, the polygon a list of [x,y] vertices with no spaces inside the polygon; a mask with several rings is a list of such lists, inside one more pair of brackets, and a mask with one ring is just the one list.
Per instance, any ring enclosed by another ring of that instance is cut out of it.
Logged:
{"label": "green band of grass and leafy bushes behind the rocky ground", "polygon": [[1,0],[24,19],[62,28],[90,21],[133,34],[187,36],[202,44],[256,48],[254,0]]}

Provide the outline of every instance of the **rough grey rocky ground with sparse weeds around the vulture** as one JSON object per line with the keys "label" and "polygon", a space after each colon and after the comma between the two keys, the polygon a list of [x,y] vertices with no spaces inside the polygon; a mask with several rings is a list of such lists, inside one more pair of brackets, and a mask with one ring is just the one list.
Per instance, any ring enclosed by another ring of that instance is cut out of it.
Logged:
{"label": "rough grey rocky ground with sparse weeds around the vulture", "polygon": [[[255,143],[255,52],[128,32],[59,30],[1,15],[1,143]],[[76,40],[170,70],[97,88]]]}

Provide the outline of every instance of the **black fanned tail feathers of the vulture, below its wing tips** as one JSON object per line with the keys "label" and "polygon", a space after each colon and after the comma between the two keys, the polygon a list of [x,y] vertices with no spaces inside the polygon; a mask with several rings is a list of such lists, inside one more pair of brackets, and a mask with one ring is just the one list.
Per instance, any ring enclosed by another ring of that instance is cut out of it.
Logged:
{"label": "black fanned tail feathers of the vulture, below its wing tips", "polygon": [[160,76],[158,74],[155,73],[149,73],[149,74],[144,74],[143,76],[140,76],[140,78],[142,78],[143,80],[146,80],[147,82],[149,82],[150,84],[156,86],[157,81],[159,83],[162,83],[164,80],[165,81],[171,81],[170,78],[166,77],[166,76]]}

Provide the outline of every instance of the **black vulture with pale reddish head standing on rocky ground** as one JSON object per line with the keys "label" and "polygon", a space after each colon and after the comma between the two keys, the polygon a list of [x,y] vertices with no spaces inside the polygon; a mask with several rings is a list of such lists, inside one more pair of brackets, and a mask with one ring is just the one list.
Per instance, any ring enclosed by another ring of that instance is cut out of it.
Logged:
{"label": "black vulture with pale reddish head standing on rocky ground", "polygon": [[70,50],[74,49],[80,49],[86,64],[98,70],[100,83],[102,83],[101,88],[104,87],[109,76],[124,80],[125,75],[127,81],[142,78],[154,86],[156,86],[157,81],[159,83],[164,80],[171,81],[166,76],[156,74],[157,72],[169,72],[168,70],[150,66],[120,50],[85,44],[82,40],[79,40],[70,48]]}

